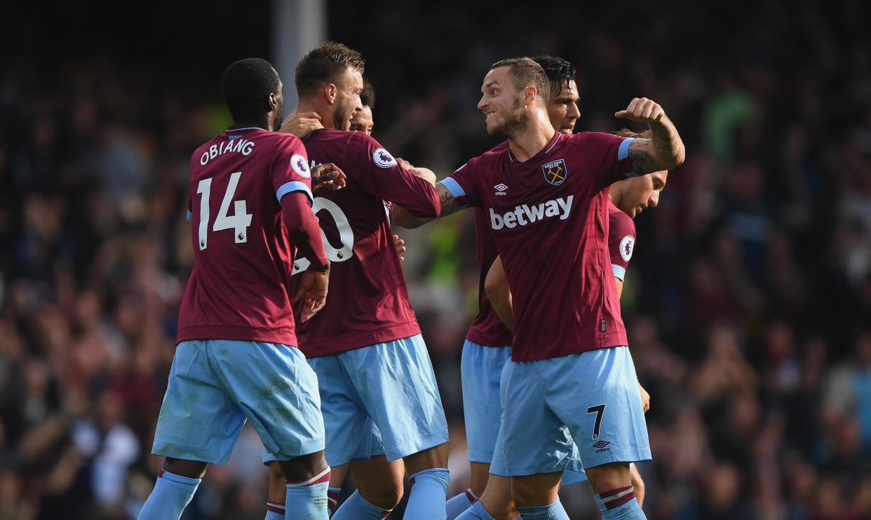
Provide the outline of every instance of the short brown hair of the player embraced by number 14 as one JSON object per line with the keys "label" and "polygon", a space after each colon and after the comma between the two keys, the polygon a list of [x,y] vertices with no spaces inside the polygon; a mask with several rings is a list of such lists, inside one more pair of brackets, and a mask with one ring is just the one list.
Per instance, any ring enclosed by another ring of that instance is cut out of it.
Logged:
{"label": "short brown hair of the player embraced by number 14", "polygon": [[310,96],[323,85],[335,83],[339,75],[348,67],[363,71],[366,60],[360,52],[338,42],[324,42],[320,47],[309,51],[296,64],[296,91],[301,97]]}

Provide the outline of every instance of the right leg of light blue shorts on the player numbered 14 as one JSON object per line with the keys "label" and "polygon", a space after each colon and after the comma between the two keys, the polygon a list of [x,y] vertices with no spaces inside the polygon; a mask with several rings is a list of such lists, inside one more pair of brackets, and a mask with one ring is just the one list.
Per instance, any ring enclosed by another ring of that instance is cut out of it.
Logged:
{"label": "right leg of light blue shorts on the player numbered 14", "polygon": [[220,340],[210,341],[209,356],[273,460],[287,461],[324,449],[318,378],[298,348]]}

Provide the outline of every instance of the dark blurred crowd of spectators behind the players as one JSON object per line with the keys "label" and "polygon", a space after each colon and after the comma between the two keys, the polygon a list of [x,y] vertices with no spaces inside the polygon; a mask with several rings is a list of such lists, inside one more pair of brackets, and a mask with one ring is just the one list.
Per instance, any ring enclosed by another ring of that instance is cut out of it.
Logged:
{"label": "dark blurred crowd of spectators behind the players", "polygon": [[[227,64],[287,62],[276,48],[302,30],[287,5],[4,5],[0,519],[122,520],[150,492],[192,264],[188,159],[229,124]],[[494,144],[475,106],[503,57],[576,64],[578,130],[617,129],[635,96],[676,122],[688,159],[636,221],[623,297],[652,395],[650,518],[871,518],[869,5],[314,0],[314,37],[368,59],[374,137],[440,178]],[[451,425],[449,496],[468,485],[472,231],[461,213],[402,233]],[[186,518],[262,518],[266,483],[246,429]],[[598,518],[589,488],[562,495]]]}

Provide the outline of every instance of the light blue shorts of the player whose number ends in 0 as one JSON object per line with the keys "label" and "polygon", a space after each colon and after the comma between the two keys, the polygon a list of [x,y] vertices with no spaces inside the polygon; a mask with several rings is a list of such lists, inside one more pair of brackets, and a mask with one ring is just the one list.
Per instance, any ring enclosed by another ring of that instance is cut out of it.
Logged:
{"label": "light blue shorts of the player whose number ends in 0", "polygon": [[448,442],[442,398],[420,334],[308,363],[320,383],[330,466],[381,454],[395,461]]}

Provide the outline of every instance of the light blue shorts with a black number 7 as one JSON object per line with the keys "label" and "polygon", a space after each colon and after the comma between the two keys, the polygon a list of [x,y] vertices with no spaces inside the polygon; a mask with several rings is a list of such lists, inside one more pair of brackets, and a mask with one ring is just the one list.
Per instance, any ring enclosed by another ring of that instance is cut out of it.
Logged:
{"label": "light blue shorts with a black number 7", "polygon": [[503,448],[506,476],[565,469],[573,453],[586,468],[651,458],[629,348],[511,361],[503,372],[502,395],[496,442]]}

